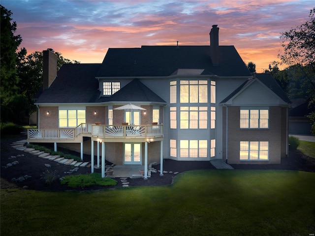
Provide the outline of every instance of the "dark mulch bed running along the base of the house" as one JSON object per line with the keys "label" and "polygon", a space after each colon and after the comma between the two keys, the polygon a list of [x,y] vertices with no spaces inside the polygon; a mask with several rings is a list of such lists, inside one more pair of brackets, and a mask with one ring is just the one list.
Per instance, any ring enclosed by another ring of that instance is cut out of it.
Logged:
{"label": "dark mulch bed running along the base of the house", "polygon": [[[35,155],[18,151],[11,147],[11,143],[17,140],[26,139],[25,135],[22,135],[20,138],[4,138],[1,139],[1,155],[0,155],[0,188],[1,189],[11,189],[11,188],[23,188],[32,190],[43,190],[43,191],[90,191],[90,190],[101,190],[101,189],[111,189],[111,188],[120,188],[122,187],[122,182],[119,178],[118,184],[115,187],[101,187],[94,186],[88,188],[68,188],[66,185],[61,185],[59,178],[62,176],[69,175],[68,172],[70,169],[73,169],[72,166],[66,166],[59,164],[57,162],[49,161],[47,159],[39,158]],[[60,149],[59,149],[60,150]],[[68,152],[71,154],[76,154],[68,150],[61,150],[63,152]],[[24,156],[18,156],[24,155]],[[15,156],[16,158],[11,158]],[[83,160],[89,162],[91,159],[90,155],[84,155]],[[6,164],[18,161],[18,164],[13,165],[12,167],[6,168]],[[50,168],[45,167],[45,164],[51,165]],[[302,171],[311,171],[315,172],[315,159],[308,157],[301,153],[300,151],[290,151],[289,157],[282,160],[281,164],[277,165],[231,165],[234,169],[287,169],[287,170],[302,170]],[[154,168],[159,169],[159,165],[154,166]],[[215,169],[210,162],[208,161],[173,161],[170,159],[165,159],[163,163],[163,170],[172,171],[173,173],[164,173],[163,176],[159,175],[159,172],[152,173],[151,178],[144,180],[142,178],[131,179],[128,178],[129,186],[159,186],[159,185],[169,185],[172,183],[173,178],[177,175],[174,172],[184,172],[194,169]],[[54,172],[58,177],[58,180],[54,181],[53,184],[47,185],[45,183],[45,172],[46,171]],[[95,169],[95,172],[100,172],[100,169]],[[79,168],[76,172],[72,174],[89,174],[91,173],[91,168]],[[19,178],[21,176],[29,175],[32,176],[27,178],[23,182],[14,182],[12,178]]]}

